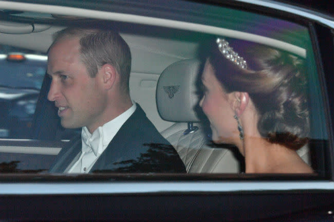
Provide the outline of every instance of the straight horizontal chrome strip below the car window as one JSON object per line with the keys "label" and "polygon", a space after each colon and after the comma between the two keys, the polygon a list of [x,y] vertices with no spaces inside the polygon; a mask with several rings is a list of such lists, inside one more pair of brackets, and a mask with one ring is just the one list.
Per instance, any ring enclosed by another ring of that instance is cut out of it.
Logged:
{"label": "straight horizontal chrome strip below the car window", "polygon": [[193,192],[267,192],[267,191],[334,192],[333,181],[121,181],[121,182],[21,182],[0,184],[0,195],[54,194],[154,194]]}

